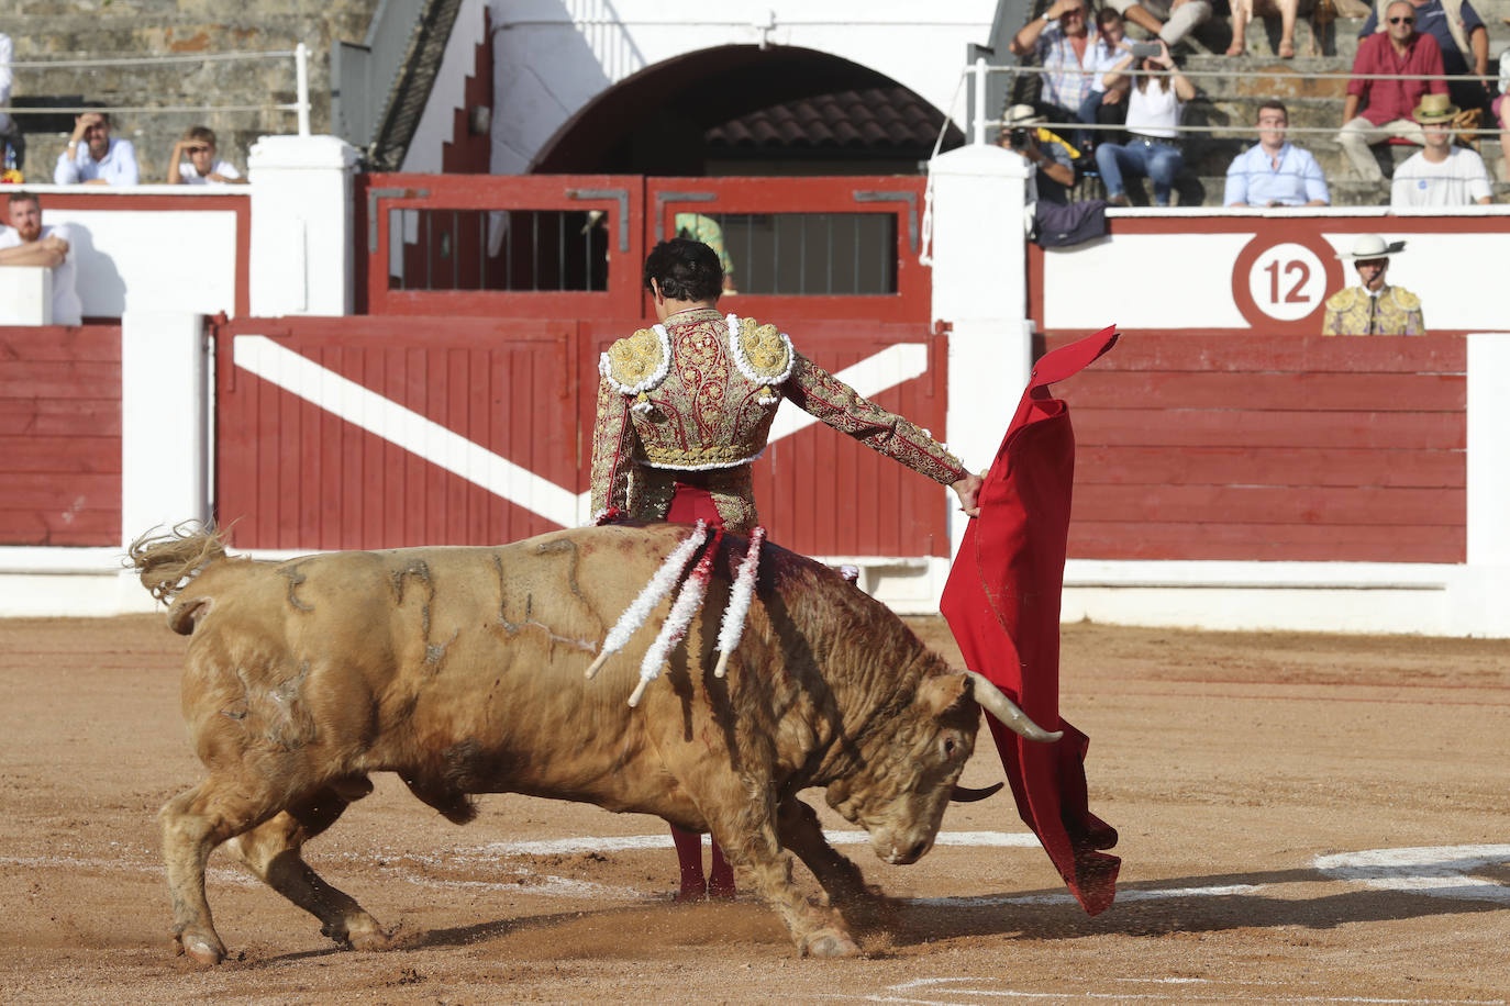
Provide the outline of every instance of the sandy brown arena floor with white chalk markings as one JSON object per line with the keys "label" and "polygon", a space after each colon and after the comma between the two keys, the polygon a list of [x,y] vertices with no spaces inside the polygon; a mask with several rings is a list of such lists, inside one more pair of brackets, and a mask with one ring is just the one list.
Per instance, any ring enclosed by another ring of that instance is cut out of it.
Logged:
{"label": "sandy brown arena floor with white chalk markings", "polygon": [[[1510,643],[1066,627],[1063,710],[1122,833],[1096,919],[1004,795],[915,866],[841,846],[903,928],[812,961],[758,902],[672,905],[655,819],[489,796],[458,828],[378,778],[308,857],[402,949],[337,950],[217,852],[216,968],[172,956],[157,857],[199,777],[183,649],[159,617],[0,621],[0,1003],[1510,998]],[[983,742],[965,783],[1000,777]]]}

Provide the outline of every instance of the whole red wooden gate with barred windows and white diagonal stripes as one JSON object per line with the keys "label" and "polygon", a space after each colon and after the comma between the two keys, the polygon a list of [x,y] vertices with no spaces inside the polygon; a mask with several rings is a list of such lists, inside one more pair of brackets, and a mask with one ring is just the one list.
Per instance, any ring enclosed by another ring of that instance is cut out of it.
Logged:
{"label": "whole red wooden gate with barred windows and white diagonal stripes", "polygon": [[[645,249],[726,238],[722,308],[787,329],[944,434],[944,338],[917,264],[921,179],[373,175],[349,318],[216,330],[216,513],[239,547],[510,541],[589,517],[598,356],[652,321]],[[837,268],[841,265],[843,268]],[[776,540],[947,555],[945,496],[782,410],[757,463]]]}

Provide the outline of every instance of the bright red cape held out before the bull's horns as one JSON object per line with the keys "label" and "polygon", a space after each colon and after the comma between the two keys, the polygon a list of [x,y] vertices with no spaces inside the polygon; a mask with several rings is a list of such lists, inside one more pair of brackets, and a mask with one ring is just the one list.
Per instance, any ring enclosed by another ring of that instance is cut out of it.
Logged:
{"label": "bright red cape held out before the bull's horns", "polygon": [[944,585],[939,609],[965,665],[1015,698],[1034,722],[1063,730],[1036,744],[988,716],[1018,813],[1084,909],[1116,897],[1114,828],[1086,799],[1089,739],[1059,716],[1059,605],[1065,587],[1075,433],[1069,407],[1048,386],[1080,373],[1117,341],[1114,329],[1059,348],[1037,362],[1022,403],[980,490]]}

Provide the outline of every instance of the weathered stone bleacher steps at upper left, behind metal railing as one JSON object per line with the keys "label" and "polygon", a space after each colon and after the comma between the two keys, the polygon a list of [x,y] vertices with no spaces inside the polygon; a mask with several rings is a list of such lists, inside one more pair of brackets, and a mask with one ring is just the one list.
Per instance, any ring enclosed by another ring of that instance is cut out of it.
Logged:
{"label": "weathered stone bleacher steps at upper left, behind metal railing", "polygon": [[[311,128],[331,128],[331,42],[362,41],[379,0],[11,0],[0,30],[15,42],[15,59],[134,59],[310,48]],[[66,106],[251,106],[251,112],[136,112],[112,116],[113,136],[130,139],[143,182],[168,176],[174,140],[190,125],[208,125],[220,157],[246,169],[257,137],[293,133],[293,112],[272,106],[294,101],[293,59],[186,62],[131,66],[17,69],[12,101]],[[27,181],[51,182],[53,164],[68,142],[71,113],[21,116]]]}

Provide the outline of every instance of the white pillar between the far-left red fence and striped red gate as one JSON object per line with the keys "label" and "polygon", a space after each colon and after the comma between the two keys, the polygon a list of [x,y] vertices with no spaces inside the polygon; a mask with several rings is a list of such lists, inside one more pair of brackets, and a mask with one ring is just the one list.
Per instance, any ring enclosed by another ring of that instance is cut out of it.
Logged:
{"label": "white pillar between the far-left red fence and striped red gate", "polygon": [[[210,516],[207,354],[204,315],[127,311],[121,318],[122,544]],[[140,585],[124,590],[131,600],[146,597]]]}

